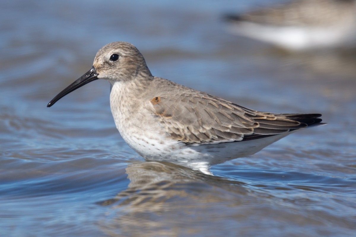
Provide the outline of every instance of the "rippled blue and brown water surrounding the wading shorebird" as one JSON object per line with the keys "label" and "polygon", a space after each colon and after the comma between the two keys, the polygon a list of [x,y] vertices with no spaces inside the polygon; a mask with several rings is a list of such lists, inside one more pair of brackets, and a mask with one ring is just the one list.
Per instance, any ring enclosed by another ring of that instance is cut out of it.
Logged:
{"label": "rippled blue and brown water surrounding the wading shorebird", "polygon": [[[291,54],[220,17],[266,1],[9,1],[0,10],[0,236],[354,236],[354,52]],[[122,140],[109,83],[47,103],[128,41],[153,75],[270,112],[322,113],[207,176],[145,162]]]}

